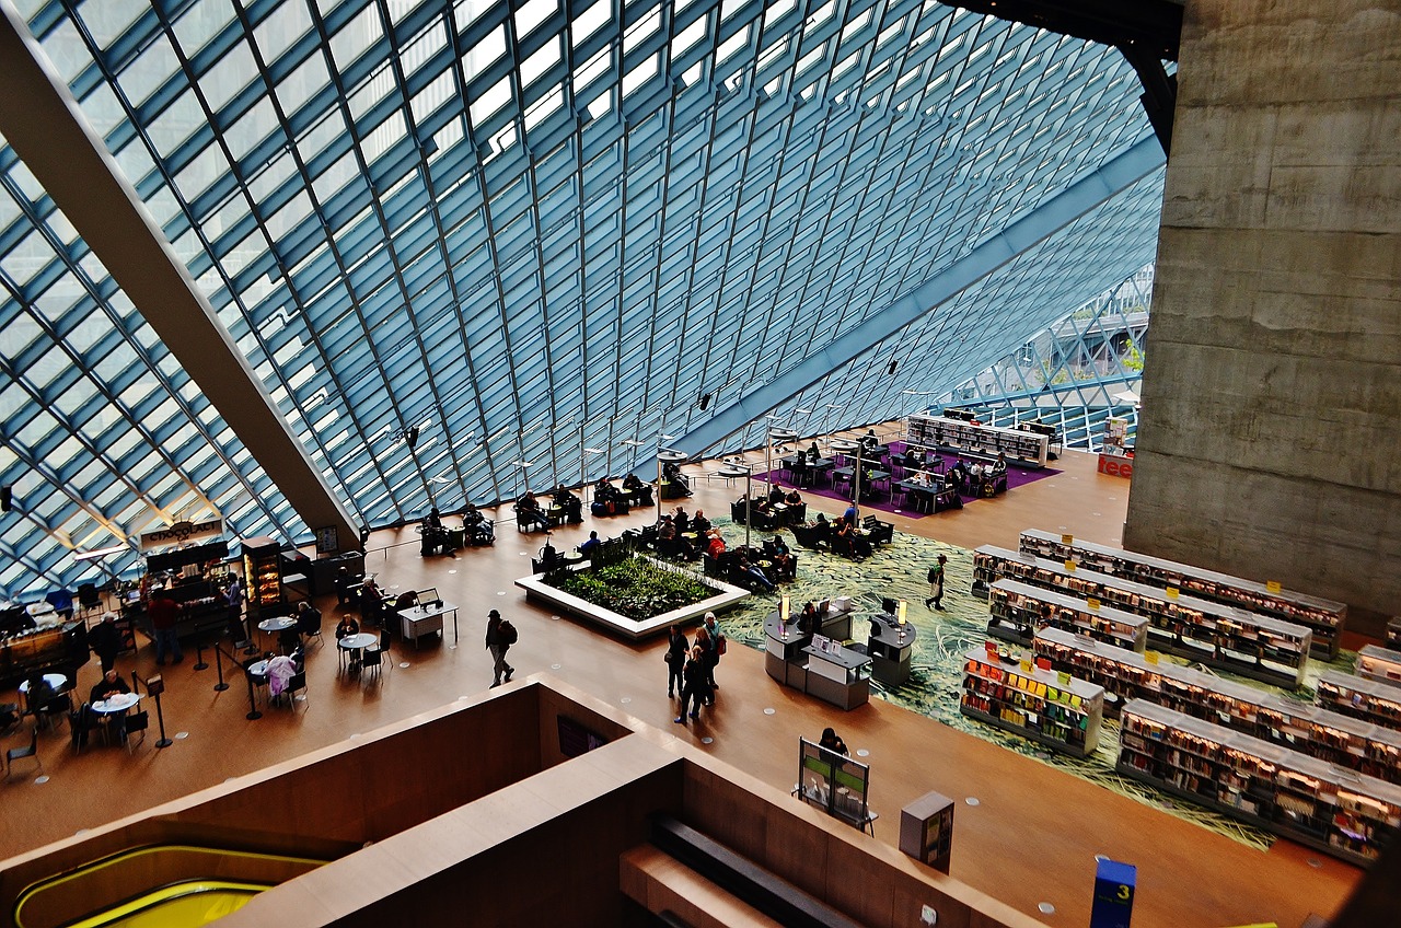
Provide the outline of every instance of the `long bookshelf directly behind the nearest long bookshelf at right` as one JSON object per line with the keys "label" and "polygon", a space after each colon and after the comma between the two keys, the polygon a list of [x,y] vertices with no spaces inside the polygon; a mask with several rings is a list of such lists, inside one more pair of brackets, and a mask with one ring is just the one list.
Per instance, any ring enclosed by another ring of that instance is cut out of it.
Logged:
{"label": "long bookshelf directly behind the nearest long bookshelf at right", "polygon": [[1107,691],[1104,714],[1132,700],[1251,735],[1377,779],[1401,784],[1401,732],[1255,687],[1157,662],[1056,628],[1037,632],[1037,657]]}

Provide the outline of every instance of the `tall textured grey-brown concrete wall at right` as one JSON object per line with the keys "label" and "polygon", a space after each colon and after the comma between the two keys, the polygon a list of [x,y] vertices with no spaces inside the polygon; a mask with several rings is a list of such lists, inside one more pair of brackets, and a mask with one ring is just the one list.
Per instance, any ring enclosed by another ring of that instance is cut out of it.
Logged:
{"label": "tall textured grey-brown concrete wall at right", "polygon": [[1401,613],[1401,1],[1188,0],[1125,544]]}

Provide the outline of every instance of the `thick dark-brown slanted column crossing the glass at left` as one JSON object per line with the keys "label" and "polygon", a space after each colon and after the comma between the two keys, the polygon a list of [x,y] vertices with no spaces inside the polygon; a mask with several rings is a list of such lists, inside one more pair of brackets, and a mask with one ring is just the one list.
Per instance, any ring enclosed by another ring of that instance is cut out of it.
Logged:
{"label": "thick dark-brown slanted column crossing the glass at left", "polygon": [[[0,0],[0,133],[311,528],[359,530],[14,7]],[[217,502],[217,500],[216,500]]]}

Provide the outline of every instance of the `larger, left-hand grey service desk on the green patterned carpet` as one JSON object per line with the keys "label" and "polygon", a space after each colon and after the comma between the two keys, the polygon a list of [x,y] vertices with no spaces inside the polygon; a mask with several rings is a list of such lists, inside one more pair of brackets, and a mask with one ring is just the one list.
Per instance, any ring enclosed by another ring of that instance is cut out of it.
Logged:
{"label": "larger, left-hand grey service desk on the green patterned carpet", "polygon": [[829,607],[815,635],[800,632],[797,617],[792,618],[794,621],[786,625],[779,624],[778,613],[764,620],[764,669],[768,674],[786,687],[843,709],[864,704],[870,698],[871,659],[853,648],[822,646],[824,642],[839,645],[850,638],[850,611]]}

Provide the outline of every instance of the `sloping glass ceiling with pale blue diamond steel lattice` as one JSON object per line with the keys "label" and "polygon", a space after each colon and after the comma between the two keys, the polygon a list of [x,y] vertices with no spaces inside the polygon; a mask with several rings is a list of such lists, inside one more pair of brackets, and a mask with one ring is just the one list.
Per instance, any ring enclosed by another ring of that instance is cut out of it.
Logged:
{"label": "sloping glass ceiling with pale blue diamond steel lattice", "polygon": [[[374,526],[640,465],[1152,137],[1117,50],[934,0],[0,1]],[[1152,259],[1161,181],[769,409],[967,380]],[[8,146],[0,363],[0,593],[310,538]]]}

